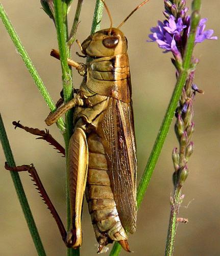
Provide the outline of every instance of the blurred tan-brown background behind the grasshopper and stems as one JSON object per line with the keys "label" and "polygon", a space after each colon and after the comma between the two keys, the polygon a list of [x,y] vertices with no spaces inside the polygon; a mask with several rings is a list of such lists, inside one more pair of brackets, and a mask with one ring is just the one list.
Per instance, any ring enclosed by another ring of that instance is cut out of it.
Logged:
{"label": "blurred tan-brown background behind the grasshopper and stems", "polygon": [[[76,8],[72,5],[70,23]],[[219,37],[219,0],[202,1],[202,17],[208,17],[207,29],[213,28]],[[140,1],[108,0],[107,4],[117,26]],[[190,5],[191,1],[188,1]],[[2,1],[11,22],[30,54],[45,86],[54,101],[61,90],[59,61],[50,57],[50,50],[57,49],[56,33],[52,20],[40,9],[40,1]],[[81,12],[81,23],[77,38],[83,41],[90,33],[90,24],[95,0],[85,0]],[[171,54],[162,54],[156,44],[146,42],[150,27],[163,19],[163,1],[151,1],[139,9],[122,27],[129,41],[129,57],[133,84],[135,132],[137,138],[138,179],[149,157],[161,120],[165,113],[175,84],[175,70],[170,63]],[[106,11],[102,28],[109,26]],[[11,142],[17,164],[34,163],[38,173],[65,221],[65,170],[64,159],[51,146],[21,130],[14,130],[13,120],[22,124],[45,128],[44,119],[48,108],[13,46],[2,22],[0,110]],[[79,59],[75,52],[73,57]],[[220,255],[220,188],[219,188],[219,40],[198,44],[195,56],[200,59],[195,83],[205,91],[197,95],[194,102],[195,150],[189,161],[190,174],[184,185],[185,199],[180,217],[188,218],[187,225],[179,224],[175,255]],[[81,77],[74,72],[74,85],[78,88]],[[155,173],[144,201],[140,207],[137,231],[129,237],[132,255],[157,256],[164,254],[169,218],[169,197],[173,189],[173,164],[171,153],[177,146],[173,126],[164,144]],[[62,142],[56,125],[50,132]],[[1,150],[0,179],[0,254],[3,256],[37,255],[25,218],[15,194],[11,177],[4,171],[5,158]],[[47,255],[65,255],[55,222],[36,193],[26,173],[21,179],[36,220]],[[188,205],[188,207],[187,207]],[[83,214],[82,255],[96,255],[87,205]],[[128,255],[122,252],[121,255]]]}

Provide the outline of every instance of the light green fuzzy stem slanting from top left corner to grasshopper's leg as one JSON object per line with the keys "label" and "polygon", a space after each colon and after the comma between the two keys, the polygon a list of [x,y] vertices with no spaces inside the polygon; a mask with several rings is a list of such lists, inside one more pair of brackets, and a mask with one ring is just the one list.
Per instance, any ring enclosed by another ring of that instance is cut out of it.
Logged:
{"label": "light green fuzzy stem slanting from top left corner to grasshopper's leg", "polygon": [[[14,27],[12,26],[1,3],[0,3],[0,17],[2,18],[3,24],[5,25],[6,30],[8,31],[8,33],[17,49],[17,52],[20,54],[29,73],[31,74],[38,90],[40,91],[41,95],[43,96],[46,104],[48,105],[48,107],[50,108],[51,111],[54,111],[56,109],[55,104],[54,104],[51,96],[48,94],[48,92],[43,84],[43,81],[41,80],[36,68],[34,67],[28,53],[26,52],[25,48],[23,47],[23,45],[22,45]],[[61,132],[64,132],[64,130],[65,130],[64,122],[61,118],[58,120],[57,126],[59,127]]]}

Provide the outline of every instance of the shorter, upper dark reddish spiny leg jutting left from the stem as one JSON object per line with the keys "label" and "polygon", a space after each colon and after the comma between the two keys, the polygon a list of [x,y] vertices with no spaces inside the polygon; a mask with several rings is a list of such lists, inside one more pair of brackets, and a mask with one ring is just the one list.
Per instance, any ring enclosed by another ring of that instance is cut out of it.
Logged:
{"label": "shorter, upper dark reddish spiny leg jutting left from the stem", "polygon": [[49,133],[49,131],[47,129],[45,129],[45,131],[43,130],[39,130],[36,128],[32,128],[32,127],[28,127],[28,126],[23,126],[20,121],[16,122],[13,121],[12,124],[15,126],[14,128],[16,129],[17,127],[19,127],[20,129],[25,130],[28,133],[31,133],[33,135],[37,135],[40,136],[36,139],[42,139],[47,141],[50,145],[54,146],[55,150],[58,150],[58,153],[61,153],[65,156],[65,149],[60,145],[59,142],[57,142],[52,135]]}

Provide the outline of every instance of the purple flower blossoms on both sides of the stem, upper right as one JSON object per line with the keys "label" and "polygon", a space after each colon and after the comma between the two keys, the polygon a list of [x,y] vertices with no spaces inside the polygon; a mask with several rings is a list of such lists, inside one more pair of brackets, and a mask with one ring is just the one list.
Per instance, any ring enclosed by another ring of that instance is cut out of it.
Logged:
{"label": "purple flower blossoms on both sides of the stem, upper right", "polygon": [[[203,42],[205,39],[217,39],[217,36],[212,36],[212,29],[205,30],[206,22],[207,18],[200,20],[195,44]],[[186,16],[184,19],[181,17],[176,19],[173,15],[170,15],[168,20],[164,20],[163,23],[159,20],[158,26],[151,28],[150,42],[156,41],[158,46],[164,49],[164,53],[171,51],[176,56],[180,53],[179,46],[184,32],[187,32],[187,35],[189,34],[189,24],[190,16]]]}

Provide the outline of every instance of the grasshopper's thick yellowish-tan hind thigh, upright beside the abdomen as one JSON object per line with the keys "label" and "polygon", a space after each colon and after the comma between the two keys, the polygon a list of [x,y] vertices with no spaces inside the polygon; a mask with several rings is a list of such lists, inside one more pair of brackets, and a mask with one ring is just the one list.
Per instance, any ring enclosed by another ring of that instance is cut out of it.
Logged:
{"label": "grasshopper's thick yellowish-tan hind thigh, upright beside the abdomen", "polygon": [[[67,242],[69,239],[73,248],[77,248],[82,244],[81,214],[87,169],[88,146],[86,134],[81,127],[77,127],[70,138],[68,149],[68,185],[72,223],[67,234]],[[76,238],[74,233],[76,233]],[[76,240],[73,241],[72,238]]]}

